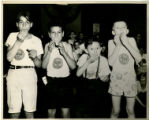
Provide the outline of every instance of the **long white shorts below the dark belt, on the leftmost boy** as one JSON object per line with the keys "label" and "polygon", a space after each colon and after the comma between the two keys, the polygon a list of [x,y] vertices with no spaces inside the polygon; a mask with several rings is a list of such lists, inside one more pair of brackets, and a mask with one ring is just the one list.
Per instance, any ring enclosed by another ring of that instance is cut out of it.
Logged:
{"label": "long white shorts below the dark belt, on the leftmost boy", "polygon": [[6,79],[8,112],[19,113],[22,103],[26,112],[36,111],[37,75],[35,69],[9,69]]}

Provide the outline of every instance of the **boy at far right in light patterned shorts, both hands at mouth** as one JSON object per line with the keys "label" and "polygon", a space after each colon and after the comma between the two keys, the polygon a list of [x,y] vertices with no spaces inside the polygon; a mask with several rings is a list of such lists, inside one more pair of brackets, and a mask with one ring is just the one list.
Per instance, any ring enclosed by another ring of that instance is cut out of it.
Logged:
{"label": "boy at far right in light patterned shorts, both hands at mouth", "polygon": [[141,55],[133,37],[128,37],[129,30],[124,21],[113,24],[114,38],[108,42],[108,61],[112,67],[109,93],[112,95],[111,118],[117,118],[120,112],[121,96],[126,97],[128,118],[134,118],[135,96],[137,95],[134,63],[141,61]]}

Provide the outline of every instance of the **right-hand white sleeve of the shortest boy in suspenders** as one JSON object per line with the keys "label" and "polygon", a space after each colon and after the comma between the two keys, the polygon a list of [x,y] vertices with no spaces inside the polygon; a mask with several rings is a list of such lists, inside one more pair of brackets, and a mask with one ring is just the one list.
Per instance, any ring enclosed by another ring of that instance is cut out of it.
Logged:
{"label": "right-hand white sleeve of the shortest boy in suspenders", "polygon": [[111,71],[107,59],[105,57],[101,57],[98,73],[99,77],[109,75],[110,73]]}

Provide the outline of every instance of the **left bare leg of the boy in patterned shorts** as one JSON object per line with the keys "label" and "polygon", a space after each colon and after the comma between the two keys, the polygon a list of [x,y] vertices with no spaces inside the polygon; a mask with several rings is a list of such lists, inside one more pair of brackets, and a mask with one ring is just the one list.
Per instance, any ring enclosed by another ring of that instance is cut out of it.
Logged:
{"label": "left bare leg of the boy in patterned shorts", "polygon": [[121,96],[112,96],[112,113],[111,118],[118,118],[120,113]]}

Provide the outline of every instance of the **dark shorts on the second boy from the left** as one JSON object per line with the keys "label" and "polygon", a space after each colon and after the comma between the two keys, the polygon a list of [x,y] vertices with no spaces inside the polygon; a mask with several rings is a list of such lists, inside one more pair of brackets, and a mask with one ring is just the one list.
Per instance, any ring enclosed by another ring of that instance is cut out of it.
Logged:
{"label": "dark shorts on the second boy from the left", "polygon": [[66,78],[47,77],[46,104],[48,109],[64,107],[69,108],[73,100],[72,80]]}

